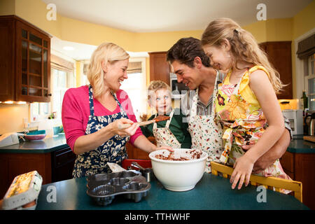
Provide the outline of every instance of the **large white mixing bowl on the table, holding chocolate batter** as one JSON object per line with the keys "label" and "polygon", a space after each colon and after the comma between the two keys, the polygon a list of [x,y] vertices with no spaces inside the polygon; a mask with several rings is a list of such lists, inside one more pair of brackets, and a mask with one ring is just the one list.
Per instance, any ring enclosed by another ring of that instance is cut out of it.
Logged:
{"label": "large white mixing bowl on the table, holding chocolate batter", "polygon": [[[189,151],[193,150],[189,148],[174,148],[174,158],[189,158],[190,153],[186,153]],[[202,179],[208,155],[202,151],[194,151],[202,153],[199,159],[177,161],[155,158],[155,155],[165,155],[167,157],[169,155],[167,150],[158,150],[149,154],[154,175],[167,190],[191,190]]]}

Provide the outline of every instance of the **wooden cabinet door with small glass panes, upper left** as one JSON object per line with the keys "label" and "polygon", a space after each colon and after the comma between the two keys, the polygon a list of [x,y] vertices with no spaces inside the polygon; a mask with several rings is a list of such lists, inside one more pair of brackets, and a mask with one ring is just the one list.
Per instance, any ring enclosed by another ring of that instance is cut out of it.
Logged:
{"label": "wooden cabinet door with small glass panes, upper left", "polygon": [[50,102],[50,38],[16,22],[16,101]]}

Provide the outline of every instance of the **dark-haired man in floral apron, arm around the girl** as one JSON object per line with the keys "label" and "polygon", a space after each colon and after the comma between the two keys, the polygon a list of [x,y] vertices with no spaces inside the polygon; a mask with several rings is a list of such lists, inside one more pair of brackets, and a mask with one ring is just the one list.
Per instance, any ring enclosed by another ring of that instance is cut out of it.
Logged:
{"label": "dark-haired man in floral apron, arm around the girl", "polygon": [[[204,53],[197,38],[181,38],[167,52],[167,61],[172,66],[179,83],[185,84],[190,91],[181,100],[181,110],[188,119],[188,131],[192,137],[192,148],[207,151],[206,172],[211,172],[210,161],[219,161],[222,147],[222,128],[214,123],[213,96],[224,73],[216,71]],[[260,172],[281,158],[290,144],[290,123],[285,119],[286,129],[281,139],[274,144],[253,167],[253,172]],[[243,146],[248,150],[251,146]]]}

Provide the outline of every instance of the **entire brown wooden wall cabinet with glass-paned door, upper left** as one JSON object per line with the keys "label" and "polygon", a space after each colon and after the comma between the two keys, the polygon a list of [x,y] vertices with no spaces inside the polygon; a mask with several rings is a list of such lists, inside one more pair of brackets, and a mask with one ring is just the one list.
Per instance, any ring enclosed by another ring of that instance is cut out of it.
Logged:
{"label": "entire brown wooden wall cabinet with glass-paned door, upper left", "polygon": [[50,102],[50,36],[0,16],[0,101]]}

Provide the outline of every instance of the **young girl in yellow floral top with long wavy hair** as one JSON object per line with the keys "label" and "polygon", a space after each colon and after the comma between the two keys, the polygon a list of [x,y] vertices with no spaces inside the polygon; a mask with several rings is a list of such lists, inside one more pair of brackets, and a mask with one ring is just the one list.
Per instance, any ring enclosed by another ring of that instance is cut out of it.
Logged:
{"label": "young girl in yellow floral top with long wavy hair", "polygon": [[[233,20],[211,22],[202,34],[202,47],[212,66],[228,71],[218,87],[214,119],[223,125],[220,160],[234,166],[230,183],[234,189],[239,182],[240,189],[244,181],[248,185],[255,161],[283,134],[276,98],[283,85],[255,38]],[[241,148],[245,144],[255,145],[245,153]],[[279,160],[258,175],[290,179]]]}

